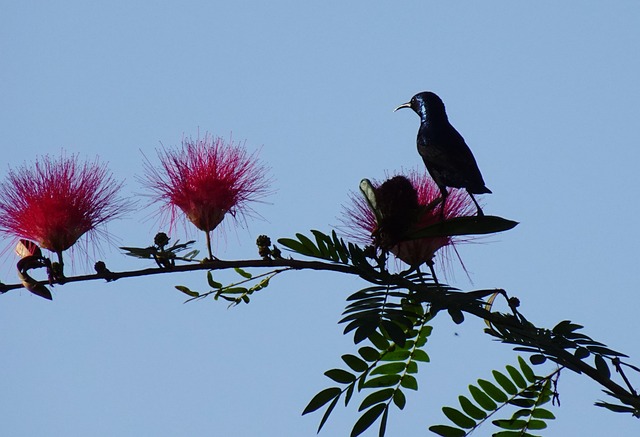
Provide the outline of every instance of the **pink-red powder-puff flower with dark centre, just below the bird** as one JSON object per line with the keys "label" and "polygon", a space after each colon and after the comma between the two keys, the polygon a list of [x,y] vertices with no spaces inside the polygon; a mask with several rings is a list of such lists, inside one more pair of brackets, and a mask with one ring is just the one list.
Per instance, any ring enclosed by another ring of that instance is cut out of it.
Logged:
{"label": "pink-red powder-puff flower with dark centre, just below the bird", "polygon": [[[410,194],[402,192],[402,179],[404,179],[404,183],[410,182],[415,190],[411,190],[413,191],[413,202]],[[400,188],[398,188],[398,182],[400,182]],[[384,222],[378,223],[376,214],[363,196],[352,193],[350,195],[351,205],[344,208],[344,217],[341,220],[348,237],[363,244],[373,244],[376,247],[387,249],[413,267],[423,263],[432,263],[438,250],[461,241],[456,237],[429,237],[417,240],[402,238],[411,232],[442,221],[441,204],[435,207],[432,204],[440,197],[440,190],[426,172],[420,174],[416,171],[410,171],[406,176],[395,176],[383,184],[374,182],[373,185],[376,190],[378,207],[383,211],[387,209],[387,212],[383,214]],[[394,191],[384,194],[385,186],[391,186],[392,190],[398,189],[400,192],[396,192],[396,195],[394,195]],[[408,199],[405,206],[401,202],[403,197]],[[416,197],[417,203],[415,202]],[[427,205],[431,205],[431,207],[427,207]],[[401,210],[401,208],[406,209]],[[449,189],[444,219],[471,216],[473,213],[474,206],[469,196],[464,191]],[[397,215],[394,217],[394,214]]]}

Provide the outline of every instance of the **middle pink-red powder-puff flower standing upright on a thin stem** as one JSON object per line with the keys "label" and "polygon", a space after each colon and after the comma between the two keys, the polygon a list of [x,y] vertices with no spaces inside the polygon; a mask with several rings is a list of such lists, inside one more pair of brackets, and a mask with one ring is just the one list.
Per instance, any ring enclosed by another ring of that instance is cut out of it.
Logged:
{"label": "middle pink-red powder-puff flower standing upright on a thin stem", "polygon": [[220,137],[183,140],[181,149],[159,150],[158,157],[159,168],[146,162],[145,184],[172,228],[182,212],[209,238],[227,213],[244,216],[250,202],[269,192],[267,169],[256,154]]}

